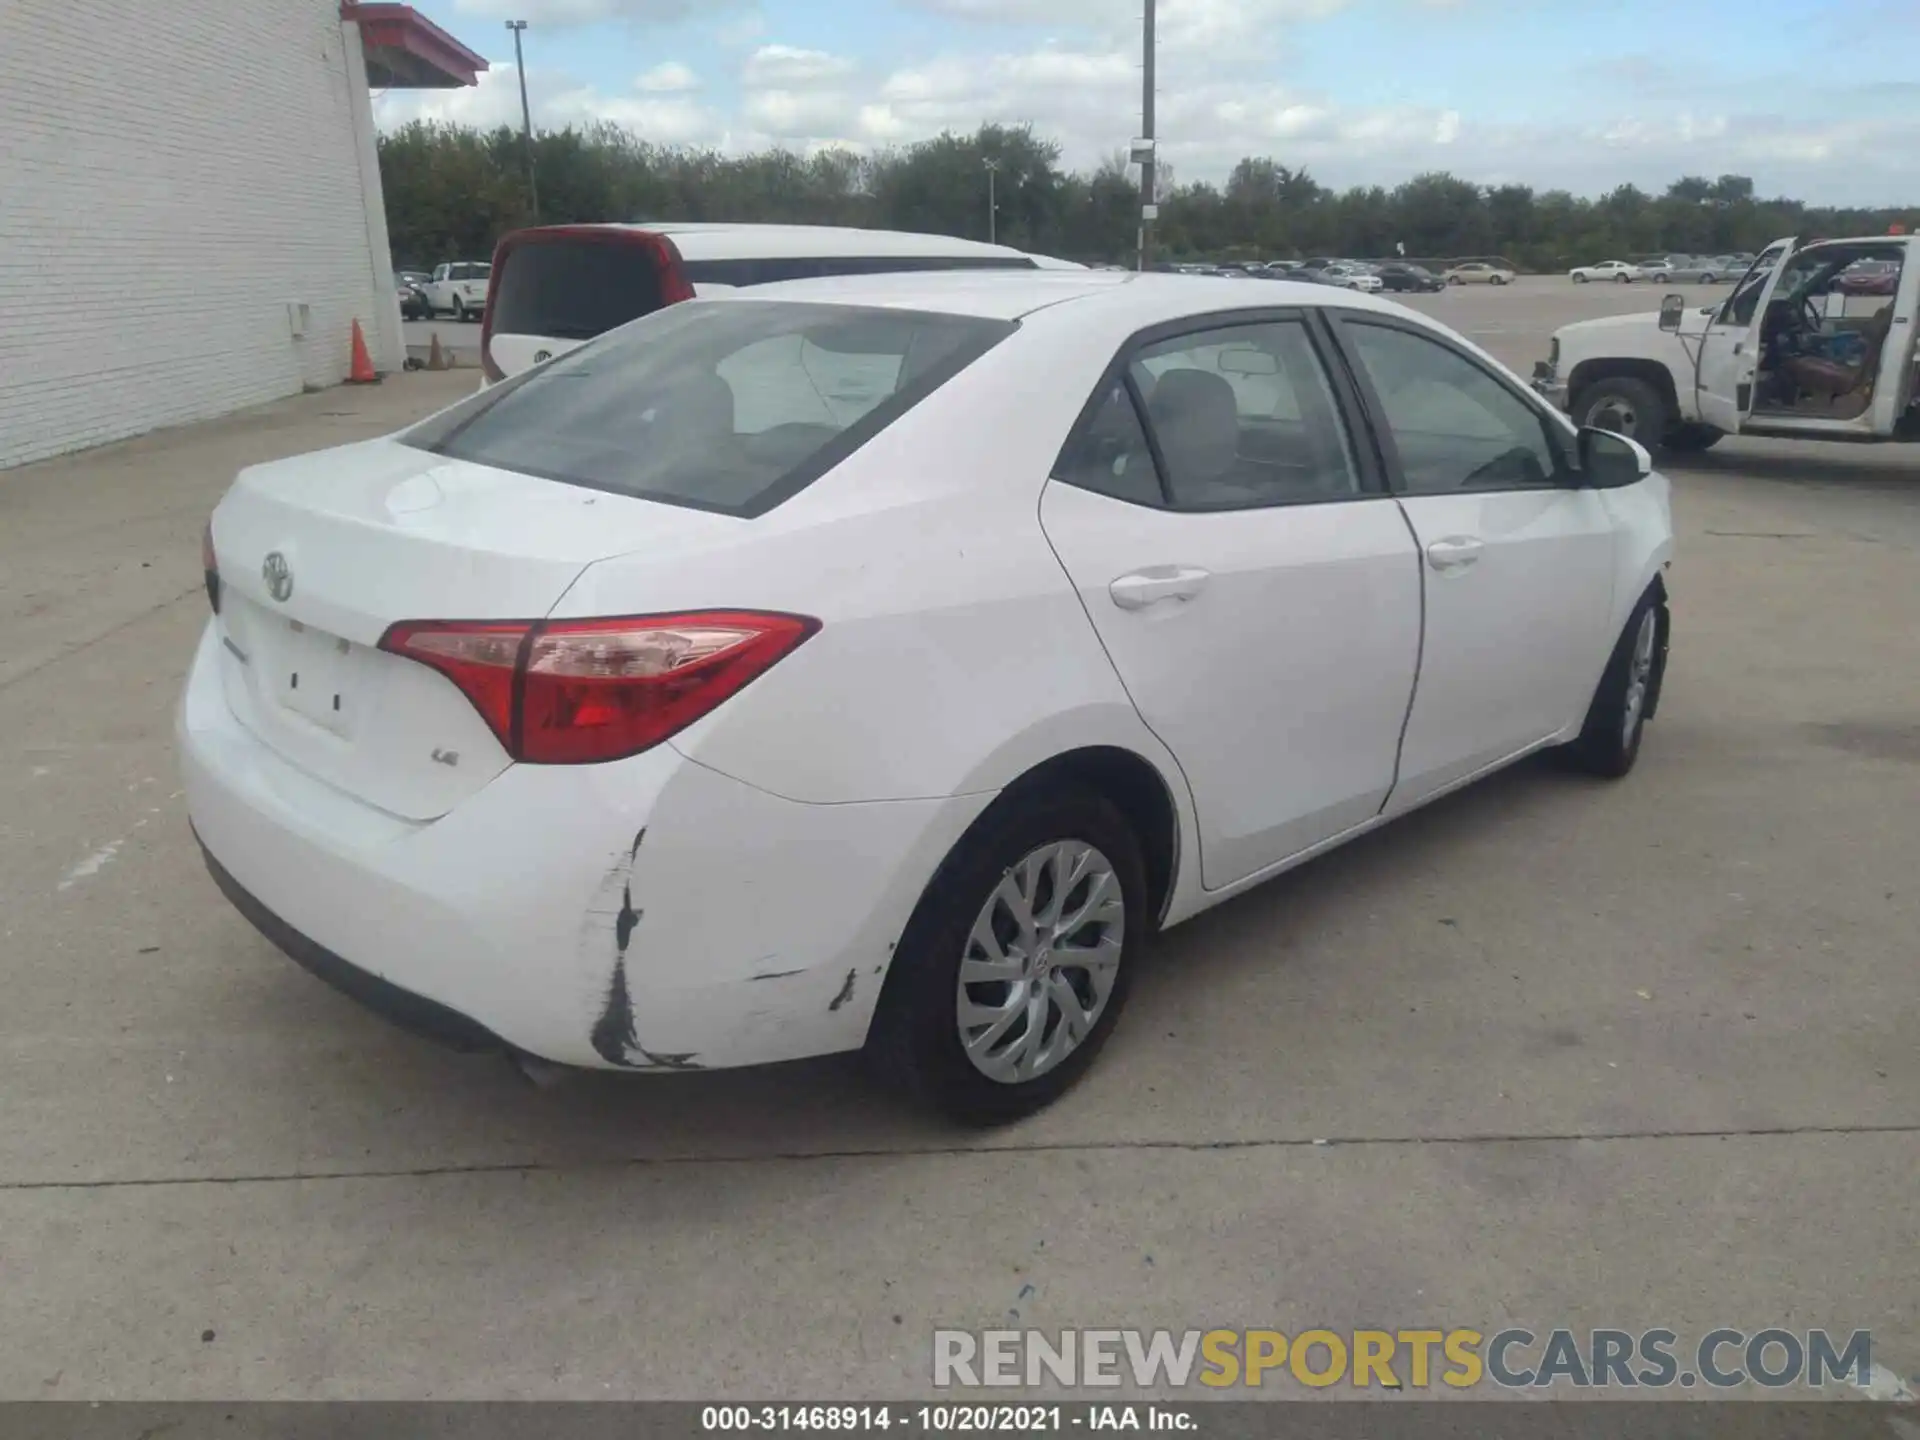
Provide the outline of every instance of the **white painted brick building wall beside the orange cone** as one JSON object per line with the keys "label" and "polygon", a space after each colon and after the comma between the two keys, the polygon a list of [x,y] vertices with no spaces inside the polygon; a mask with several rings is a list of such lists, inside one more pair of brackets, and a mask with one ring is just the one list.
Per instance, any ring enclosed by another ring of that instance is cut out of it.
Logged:
{"label": "white painted brick building wall beside the orange cone", "polygon": [[371,127],[338,0],[0,4],[0,468],[396,367]]}

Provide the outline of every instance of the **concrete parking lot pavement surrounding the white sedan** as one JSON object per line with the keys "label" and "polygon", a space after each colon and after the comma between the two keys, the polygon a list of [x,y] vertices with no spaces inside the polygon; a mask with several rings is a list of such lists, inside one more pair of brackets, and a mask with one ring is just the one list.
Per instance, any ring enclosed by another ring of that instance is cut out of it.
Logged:
{"label": "concrete parking lot pavement surrounding the white sedan", "polygon": [[[1524,374],[1657,300],[1415,303]],[[975,1135],[843,1060],[534,1089],[221,900],[171,739],[204,518],[472,384],[0,476],[0,1396],[904,1398],[996,1323],[1870,1329],[1920,1373],[1912,447],[1670,467],[1626,781],[1524,764],[1175,929],[1089,1081]]]}

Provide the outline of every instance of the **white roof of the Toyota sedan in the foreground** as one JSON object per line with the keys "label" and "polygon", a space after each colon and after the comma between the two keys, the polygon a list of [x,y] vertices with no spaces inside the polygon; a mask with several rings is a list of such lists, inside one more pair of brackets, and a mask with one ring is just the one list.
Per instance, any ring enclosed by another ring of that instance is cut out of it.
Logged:
{"label": "white roof of the Toyota sedan in the foreground", "polygon": [[[1258,300],[1254,300],[1258,296]],[[781,280],[716,296],[720,303],[789,300],[816,305],[876,305],[939,315],[1018,321],[1056,305],[1098,307],[1137,324],[1244,309],[1346,305],[1390,315],[1413,315],[1392,301],[1356,290],[1302,280],[1246,280],[1208,275],[1137,271],[914,271],[904,275],[847,275],[822,280]]]}

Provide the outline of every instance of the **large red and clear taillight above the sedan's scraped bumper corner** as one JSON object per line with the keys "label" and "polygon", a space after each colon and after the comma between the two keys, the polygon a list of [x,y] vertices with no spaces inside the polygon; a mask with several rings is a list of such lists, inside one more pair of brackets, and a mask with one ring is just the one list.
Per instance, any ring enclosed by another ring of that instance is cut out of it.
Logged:
{"label": "large red and clear taillight above the sedan's scraped bumper corner", "polygon": [[620,620],[407,620],[380,649],[461,687],[515,760],[591,764],[653,749],[820,628],[799,614],[699,611]]}

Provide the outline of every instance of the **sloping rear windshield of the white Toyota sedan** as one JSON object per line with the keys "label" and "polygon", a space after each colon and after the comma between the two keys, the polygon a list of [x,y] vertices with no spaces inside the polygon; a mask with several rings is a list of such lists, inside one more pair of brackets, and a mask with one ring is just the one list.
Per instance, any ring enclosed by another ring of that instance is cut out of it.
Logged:
{"label": "sloping rear windshield of the white Toyota sedan", "polygon": [[563,484],[753,516],[831,470],[1014,328],[858,305],[687,301],[482,392],[403,440]]}

